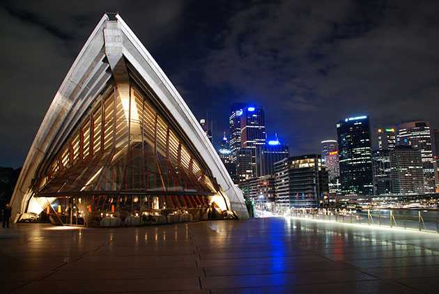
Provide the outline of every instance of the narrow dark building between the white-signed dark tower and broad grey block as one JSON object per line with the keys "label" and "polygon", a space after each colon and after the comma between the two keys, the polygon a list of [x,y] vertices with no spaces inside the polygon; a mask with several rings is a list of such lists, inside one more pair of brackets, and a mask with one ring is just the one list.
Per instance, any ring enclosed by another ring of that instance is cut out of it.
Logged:
{"label": "narrow dark building between the white-signed dark tower and broad grey block", "polygon": [[373,151],[373,180],[376,195],[392,194],[389,150]]}

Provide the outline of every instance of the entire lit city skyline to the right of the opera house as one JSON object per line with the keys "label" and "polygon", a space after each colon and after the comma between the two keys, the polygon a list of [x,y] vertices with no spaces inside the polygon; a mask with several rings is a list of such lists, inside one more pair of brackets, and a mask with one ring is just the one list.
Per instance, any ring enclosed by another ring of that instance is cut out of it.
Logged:
{"label": "entire lit city skyline to the right of the opera house", "polygon": [[[203,120],[201,125],[211,139]],[[233,183],[266,210],[325,207],[343,197],[438,192],[439,129],[430,130],[428,121],[378,129],[377,150],[369,116],[346,118],[336,127],[337,139],[321,141],[321,155],[291,157],[277,135],[267,139],[263,108],[237,103],[218,154]]]}

